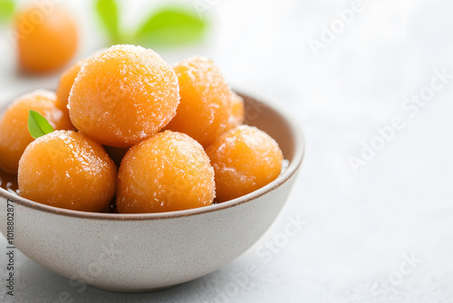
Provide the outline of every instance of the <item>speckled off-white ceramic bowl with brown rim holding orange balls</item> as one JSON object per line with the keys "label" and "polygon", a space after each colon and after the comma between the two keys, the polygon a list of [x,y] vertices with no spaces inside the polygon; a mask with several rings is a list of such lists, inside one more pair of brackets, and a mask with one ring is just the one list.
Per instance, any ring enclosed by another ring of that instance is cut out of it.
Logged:
{"label": "speckled off-white ceramic bowl with brown rim holding orange balls", "polygon": [[2,223],[1,232],[13,236],[10,244],[24,255],[72,279],[75,286],[148,291],[221,268],[249,249],[275,220],[304,156],[302,132],[291,119],[239,94],[245,99],[246,123],[271,135],[288,161],[265,187],[199,209],[149,214],[64,210],[0,189],[0,216],[9,216],[14,224],[8,235]]}

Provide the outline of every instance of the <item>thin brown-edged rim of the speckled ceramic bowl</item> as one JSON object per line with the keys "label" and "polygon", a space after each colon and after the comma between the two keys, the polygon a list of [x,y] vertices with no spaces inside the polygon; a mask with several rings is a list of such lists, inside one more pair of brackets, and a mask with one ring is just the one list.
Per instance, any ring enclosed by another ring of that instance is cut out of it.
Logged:
{"label": "thin brown-edged rim of the speckled ceramic bowl", "polygon": [[28,200],[23,197],[14,195],[11,192],[5,191],[4,189],[0,188],[0,197],[4,198],[5,200],[12,200],[14,203],[22,205],[24,207],[39,210],[43,212],[52,213],[55,215],[60,216],[67,216],[67,217],[75,217],[80,219],[90,219],[90,220],[163,220],[163,219],[171,219],[171,218],[182,218],[188,216],[194,216],[199,214],[208,213],[211,211],[218,211],[218,210],[225,210],[231,207],[235,207],[237,205],[241,205],[246,203],[250,200],[255,200],[269,191],[273,191],[276,188],[280,187],[284,182],[288,181],[294,173],[299,169],[303,159],[304,159],[304,147],[305,147],[305,140],[304,140],[304,133],[298,126],[296,122],[290,117],[288,117],[284,112],[275,108],[275,106],[271,106],[268,103],[261,101],[248,93],[237,92],[239,95],[253,99],[257,103],[264,104],[266,107],[270,108],[272,111],[276,112],[277,114],[281,115],[286,122],[288,122],[289,127],[291,129],[292,136],[294,138],[294,156],[293,160],[290,161],[288,167],[275,179],[275,181],[270,182],[269,184],[265,185],[264,187],[250,192],[244,196],[236,198],[234,200],[228,200],[223,203],[217,203],[214,205],[209,205],[205,207],[201,207],[198,209],[192,210],[177,210],[177,211],[168,211],[168,212],[154,212],[154,213],[130,213],[130,214],[120,214],[120,213],[102,213],[102,212],[88,212],[88,211],[80,211],[80,210],[66,210],[57,208],[54,206],[42,204],[35,202],[33,200]]}

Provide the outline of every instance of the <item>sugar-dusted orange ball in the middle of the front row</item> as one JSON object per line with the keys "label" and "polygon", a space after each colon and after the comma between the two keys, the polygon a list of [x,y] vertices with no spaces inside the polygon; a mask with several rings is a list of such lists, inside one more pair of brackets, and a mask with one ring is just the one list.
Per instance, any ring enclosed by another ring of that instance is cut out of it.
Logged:
{"label": "sugar-dusted orange ball in the middle of the front row", "polygon": [[188,210],[211,205],[214,170],[201,145],[180,132],[159,132],[130,148],[118,174],[122,213]]}

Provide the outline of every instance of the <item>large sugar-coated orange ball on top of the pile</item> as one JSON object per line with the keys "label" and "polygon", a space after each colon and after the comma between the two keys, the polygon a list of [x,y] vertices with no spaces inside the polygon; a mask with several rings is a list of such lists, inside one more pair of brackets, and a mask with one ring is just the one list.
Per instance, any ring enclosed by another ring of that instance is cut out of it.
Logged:
{"label": "large sugar-coated orange ball on top of the pile", "polygon": [[154,51],[111,46],[82,66],[69,97],[74,126],[96,142],[130,147],[175,116],[178,78]]}

